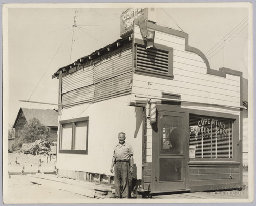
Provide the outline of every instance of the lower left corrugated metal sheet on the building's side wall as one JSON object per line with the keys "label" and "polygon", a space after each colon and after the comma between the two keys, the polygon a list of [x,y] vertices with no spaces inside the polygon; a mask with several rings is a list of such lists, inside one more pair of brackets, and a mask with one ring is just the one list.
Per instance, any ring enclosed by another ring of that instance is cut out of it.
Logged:
{"label": "lower left corrugated metal sheet on the building's side wall", "polygon": [[68,105],[77,102],[93,102],[95,85],[69,91],[62,95],[62,104]]}

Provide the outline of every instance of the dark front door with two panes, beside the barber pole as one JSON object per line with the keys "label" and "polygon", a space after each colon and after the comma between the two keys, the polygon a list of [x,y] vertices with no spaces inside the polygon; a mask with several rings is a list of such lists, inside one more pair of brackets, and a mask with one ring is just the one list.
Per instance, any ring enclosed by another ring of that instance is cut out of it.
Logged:
{"label": "dark front door with two panes, beside the barber pole", "polygon": [[152,191],[186,189],[186,114],[158,111],[153,129]]}

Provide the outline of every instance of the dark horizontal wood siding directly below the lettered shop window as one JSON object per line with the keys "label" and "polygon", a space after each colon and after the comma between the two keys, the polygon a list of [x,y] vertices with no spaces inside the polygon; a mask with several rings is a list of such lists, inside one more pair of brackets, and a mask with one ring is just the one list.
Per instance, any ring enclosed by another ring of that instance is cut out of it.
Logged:
{"label": "dark horizontal wood siding directly below the lettered shop window", "polygon": [[[190,166],[189,187],[215,186],[218,184],[239,184],[239,166]],[[228,185],[226,185],[228,187]]]}

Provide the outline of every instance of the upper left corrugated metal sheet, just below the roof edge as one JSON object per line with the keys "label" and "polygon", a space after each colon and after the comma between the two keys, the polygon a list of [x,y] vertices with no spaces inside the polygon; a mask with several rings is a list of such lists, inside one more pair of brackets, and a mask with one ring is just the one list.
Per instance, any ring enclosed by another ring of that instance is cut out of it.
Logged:
{"label": "upper left corrugated metal sheet, just below the roof edge", "polygon": [[93,65],[82,68],[62,79],[62,94],[93,84]]}

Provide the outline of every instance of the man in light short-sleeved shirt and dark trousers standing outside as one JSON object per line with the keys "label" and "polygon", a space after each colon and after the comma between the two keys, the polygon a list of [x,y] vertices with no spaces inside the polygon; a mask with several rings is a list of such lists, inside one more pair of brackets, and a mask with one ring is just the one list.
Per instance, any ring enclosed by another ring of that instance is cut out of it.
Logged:
{"label": "man in light short-sleeved shirt and dark trousers standing outside", "polygon": [[113,173],[115,165],[115,197],[128,198],[129,171],[133,174],[133,148],[125,142],[125,133],[120,132],[118,140],[119,143],[114,147],[110,172]]}

